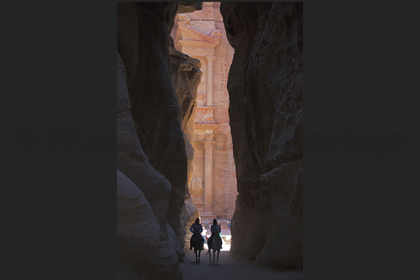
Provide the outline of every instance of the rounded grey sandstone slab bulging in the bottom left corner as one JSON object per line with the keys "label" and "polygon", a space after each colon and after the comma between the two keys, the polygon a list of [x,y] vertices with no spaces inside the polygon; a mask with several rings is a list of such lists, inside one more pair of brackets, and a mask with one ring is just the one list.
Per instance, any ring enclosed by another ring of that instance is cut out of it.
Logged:
{"label": "rounded grey sandstone slab bulging in the bottom left corner", "polygon": [[182,279],[143,192],[117,170],[117,279]]}

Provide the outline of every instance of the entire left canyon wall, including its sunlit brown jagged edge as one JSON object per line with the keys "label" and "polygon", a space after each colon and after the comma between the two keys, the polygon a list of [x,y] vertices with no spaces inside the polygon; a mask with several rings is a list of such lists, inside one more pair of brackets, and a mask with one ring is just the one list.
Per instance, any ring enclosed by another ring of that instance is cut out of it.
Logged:
{"label": "entire left canyon wall, including its sunlit brown jagged edge", "polygon": [[182,279],[185,223],[198,217],[185,127],[201,72],[169,33],[200,7],[117,3],[117,279]]}

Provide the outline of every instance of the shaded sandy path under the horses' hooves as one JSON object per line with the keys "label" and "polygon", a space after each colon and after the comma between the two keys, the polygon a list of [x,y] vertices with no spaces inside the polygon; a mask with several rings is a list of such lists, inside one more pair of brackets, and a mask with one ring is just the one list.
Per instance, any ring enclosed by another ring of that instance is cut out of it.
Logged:
{"label": "shaded sandy path under the horses' hooves", "polygon": [[210,265],[207,249],[201,251],[201,264],[196,264],[194,251],[187,251],[180,261],[182,279],[303,279],[303,270],[277,271],[229,257],[228,251],[219,254],[219,266]]}

